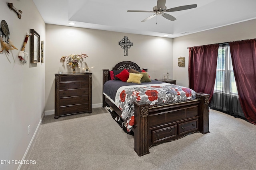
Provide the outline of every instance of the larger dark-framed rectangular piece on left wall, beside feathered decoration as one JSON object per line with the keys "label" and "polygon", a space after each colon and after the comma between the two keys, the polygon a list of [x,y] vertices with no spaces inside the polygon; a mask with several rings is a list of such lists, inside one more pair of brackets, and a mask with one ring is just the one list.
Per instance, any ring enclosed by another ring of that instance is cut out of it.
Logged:
{"label": "larger dark-framed rectangular piece on left wall, beside feathered decoration", "polygon": [[30,29],[30,63],[40,63],[40,35]]}

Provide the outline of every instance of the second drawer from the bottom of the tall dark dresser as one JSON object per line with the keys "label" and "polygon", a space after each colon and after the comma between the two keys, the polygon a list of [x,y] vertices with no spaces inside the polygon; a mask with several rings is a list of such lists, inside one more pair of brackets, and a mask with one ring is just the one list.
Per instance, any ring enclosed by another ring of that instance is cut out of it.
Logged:
{"label": "second drawer from the bottom of the tall dark dresser", "polygon": [[89,96],[75,96],[75,97],[68,97],[68,98],[60,98],[59,99],[59,106],[69,106],[75,104],[86,104],[89,102]]}

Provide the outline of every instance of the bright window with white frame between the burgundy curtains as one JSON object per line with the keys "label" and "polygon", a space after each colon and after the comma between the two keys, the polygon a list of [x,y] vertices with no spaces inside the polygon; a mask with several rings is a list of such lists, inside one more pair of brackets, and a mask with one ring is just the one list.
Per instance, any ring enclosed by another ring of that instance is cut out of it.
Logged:
{"label": "bright window with white frame between the burgundy curtains", "polygon": [[238,95],[229,45],[220,45],[218,49],[214,91]]}

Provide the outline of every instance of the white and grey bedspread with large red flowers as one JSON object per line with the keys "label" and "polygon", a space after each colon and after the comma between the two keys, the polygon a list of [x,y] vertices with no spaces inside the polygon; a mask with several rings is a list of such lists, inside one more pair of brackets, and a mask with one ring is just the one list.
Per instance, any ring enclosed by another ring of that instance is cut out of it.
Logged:
{"label": "white and grey bedspread with large red flowers", "polygon": [[134,125],[133,102],[147,102],[151,107],[194,100],[196,92],[175,84],[149,84],[122,86],[118,89],[115,104],[122,110],[122,119],[126,121],[127,131]]}

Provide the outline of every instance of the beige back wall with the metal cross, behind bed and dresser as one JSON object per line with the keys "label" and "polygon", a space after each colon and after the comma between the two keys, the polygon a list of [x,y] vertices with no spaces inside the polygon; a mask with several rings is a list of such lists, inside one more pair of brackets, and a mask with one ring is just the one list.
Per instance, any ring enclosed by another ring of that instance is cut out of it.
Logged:
{"label": "beige back wall with the metal cross, behind bed and dresser", "polygon": [[[133,43],[128,56],[124,56],[118,45],[124,36]],[[168,70],[172,75],[170,38],[46,24],[46,41],[46,114],[54,113],[54,74],[59,69],[72,71],[60,62],[63,55],[86,53],[89,56],[86,64],[92,72],[92,107],[102,107],[102,69],[112,69],[120,61],[133,61],[141,68],[148,68],[153,79],[162,79]]]}

